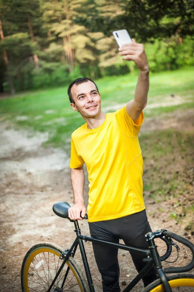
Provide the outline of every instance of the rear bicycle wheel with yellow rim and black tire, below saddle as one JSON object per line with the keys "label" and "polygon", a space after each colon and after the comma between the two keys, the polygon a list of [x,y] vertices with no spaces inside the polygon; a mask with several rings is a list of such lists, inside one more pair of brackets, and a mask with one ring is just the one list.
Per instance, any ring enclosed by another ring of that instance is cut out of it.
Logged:
{"label": "rear bicycle wheel with yellow rim and black tire, below saddle", "polygon": [[[22,292],[47,292],[63,260],[62,247],[50,242],[34,245],[24,257],[21,267]],[[65,283],[62,283],[66,277]],[[88,284],[73,257],[57,277],[51,292],[88,292]]]}

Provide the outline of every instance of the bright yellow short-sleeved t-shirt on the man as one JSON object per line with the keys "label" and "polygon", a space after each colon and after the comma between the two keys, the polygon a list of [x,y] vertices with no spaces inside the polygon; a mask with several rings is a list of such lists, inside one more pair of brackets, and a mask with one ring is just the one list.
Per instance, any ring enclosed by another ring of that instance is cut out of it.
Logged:
{"label": "bright yellow short-sleeved t-shirt on the man", "polygon": [[89,180],[88,221],[116,219],[145,209],[143,160],[138,132],[143,112],[133,121],[126,106],[107,113],[104,123],[87,123],[71,135],[70,167],[86,163]]}

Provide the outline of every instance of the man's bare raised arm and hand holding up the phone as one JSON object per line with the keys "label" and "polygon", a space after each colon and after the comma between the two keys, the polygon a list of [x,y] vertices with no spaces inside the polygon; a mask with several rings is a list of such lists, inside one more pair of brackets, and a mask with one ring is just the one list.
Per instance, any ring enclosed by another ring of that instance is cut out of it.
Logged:
{"label": "man's bare raised arm and hand holding up the phone", "polygon": [[126,106],[126,111],[132,120],[137,120],[141,111],[147,104],[147,93],[149,90],[149,64],[144,51],[144,46],[132,39],[132,43],[125,44],[119,48],[123,60],[134,61],[140,70],[138,83],[135,90],[134,99],[130,100]]}

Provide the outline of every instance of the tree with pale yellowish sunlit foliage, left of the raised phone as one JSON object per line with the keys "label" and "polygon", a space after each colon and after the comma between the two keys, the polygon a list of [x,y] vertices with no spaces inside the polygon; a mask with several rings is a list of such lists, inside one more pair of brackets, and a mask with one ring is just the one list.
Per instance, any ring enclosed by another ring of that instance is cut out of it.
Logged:
{"label": "tree with pale yellowish sunlit foliage, left of the raised phone", "polygon": [[[62,60],[66,63],[69,71],[78,64],[95,61],[96,57],[92,52],[94,43],[89,37],[88,30],[81,23],[76,22],[80,16],[82,6],[87,0],[61,0],[50,1],[43,4],[44,21],[47,23],[49,36],[54,36],[49,50],[57,49],[64,51]],[[86,5],[86,7],[88,7]],[[82,11],[86,17],[87,11]],[[62,42],[61,42],[62,40]]]}

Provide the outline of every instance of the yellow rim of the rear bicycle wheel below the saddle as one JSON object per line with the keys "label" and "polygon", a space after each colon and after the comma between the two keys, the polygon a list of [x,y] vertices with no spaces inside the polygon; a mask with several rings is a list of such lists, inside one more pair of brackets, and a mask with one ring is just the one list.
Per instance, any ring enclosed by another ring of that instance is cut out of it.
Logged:
{"label": "yellow rim of the rear bicycle wheel below the saddle", "polygon": [[[25,289],[25,292],[29,292],[29,289],[28,289],[28,270],[29,270],[29,267],[30,267],[30,264],[33,260],[33,258],[35,256],[37,256],[38,254],[40,253],[52,253],[56,256],[61,256],[57,251],[51,249],[51,248],[37,248],[37,250],[35,250],[27,259],[26,261],[26,264],[25,264],[25,267],[24,267],[24,289]],[[76,277],[77,279],[77,282],[79,284],[79,287],[80,287],[80,291],[81,292],[84,292],[83,288],[82,288],[82,284],[80,282],[80,279],[79,277],[77,276],[77,273],[75,272],[75,270],[71,267],[71,264],[69,262],[66,262],[67,265],[70,267],[72,273],[74,274],[74,276]]]}

